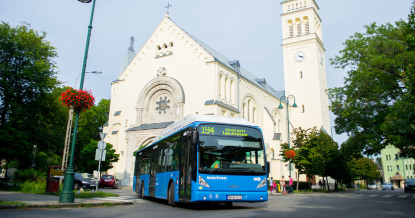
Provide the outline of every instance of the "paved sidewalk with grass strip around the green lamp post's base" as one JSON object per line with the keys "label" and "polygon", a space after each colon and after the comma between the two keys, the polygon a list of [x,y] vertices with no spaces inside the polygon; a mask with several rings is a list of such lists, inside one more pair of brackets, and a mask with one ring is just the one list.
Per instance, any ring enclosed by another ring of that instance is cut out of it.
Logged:
{"label": "paved sidewalk with grass strip around the green lamp post's base", "polygon": [[92,205],[95,207],[111,205],[131,205],[132,202],[114,202],[110,200],[76,198],[74,203],[59,203],[59,196],[39,195],[19,192],[0,191],[0,201],[4,202],[22,202],[26,205],[0,205],[0,210],[4,209],[25,209],[25,208],[76,208],[82,205]]}

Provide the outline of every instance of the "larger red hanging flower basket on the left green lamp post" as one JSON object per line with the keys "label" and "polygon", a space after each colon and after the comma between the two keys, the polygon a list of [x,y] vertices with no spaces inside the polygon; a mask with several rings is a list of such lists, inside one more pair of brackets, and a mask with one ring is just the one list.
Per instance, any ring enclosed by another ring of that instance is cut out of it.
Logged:
{"label": "larger red hanging flower basket on the left green lamp post", "polygon": [[72,108],[75,113],[81,113],[91,108],[95,103],[95,98],[91,91],[68,88],[60,95],[62,104],[67,108]]}

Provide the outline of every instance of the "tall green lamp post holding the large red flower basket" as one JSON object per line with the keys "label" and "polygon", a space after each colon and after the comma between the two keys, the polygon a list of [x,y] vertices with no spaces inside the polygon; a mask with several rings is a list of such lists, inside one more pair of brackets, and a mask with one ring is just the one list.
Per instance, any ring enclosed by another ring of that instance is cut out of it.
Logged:
{"label": "tall green lamp post holding the large red flower basket", "polygon": [[[78,1],[82,3],[89,3],[92,0],[78,0]],[[92,17],[93,17],[94,7],[95,7],[95,0],[92,1],[91,17],[90,17],[89,25],[88,25],[88,34],[86,36],[86,46],[85,46],[85,53],[83,55],[83,65],[82,65],[82,72],[81,72],[80,85],[79,85],[80,90],[82,90],[83,88],[83,77],[85,76],[86,58],[88,56],[89,38],[91,35],[91,29],[92,29]],[[74,202],[73,175],[75,174],[75,172],[73,169],[73,156],[75,155],[75,143],[76,143],[76,132],[78,129],[78,120],[79,120],[79,113],[76,113],[75,123],[73,125],[74,126],[73,127],[73,139],[72,139],[72,146],[70,149],[69,166],[66,168],[65,181],[63,182],[63,190],[59,196],[59,203],[73,203]]]}

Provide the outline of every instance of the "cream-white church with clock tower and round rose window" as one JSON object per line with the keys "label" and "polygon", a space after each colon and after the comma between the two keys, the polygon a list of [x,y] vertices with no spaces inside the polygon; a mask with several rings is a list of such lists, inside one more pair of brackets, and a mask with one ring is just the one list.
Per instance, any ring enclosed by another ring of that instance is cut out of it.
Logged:
{"label": "cream-white church with clock tower and round rose window", "polygon": [[270,87],[265,78],[244,70],[243,63],[181,29],[168,13],[136,54],[131,41],[111,83],[103,132],[108,133],[105,142],[120,156],[108,173],[121,179],[122,186],[132,186],[134,151],[185,115],[205,114],[258,124],[270,162],[269,177],[295,178],[295,170],[291,167],[288,172],[279,155],[288,130],[330,129],[325,49],[315,0],[282,0],[281,5],[285,90]]}

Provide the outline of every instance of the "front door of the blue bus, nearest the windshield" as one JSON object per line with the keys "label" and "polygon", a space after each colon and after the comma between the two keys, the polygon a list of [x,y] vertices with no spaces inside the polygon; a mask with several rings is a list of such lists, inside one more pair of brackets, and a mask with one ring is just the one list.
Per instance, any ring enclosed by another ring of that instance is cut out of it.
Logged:
{"label": "front door of the blue bus, nearest the windshield", "polygon": [[191,197],[191,174],[193,166],[193,146],[190,138],[181,141],[180,150],[180,172],[179,172],[179,199],[190,201]]}

